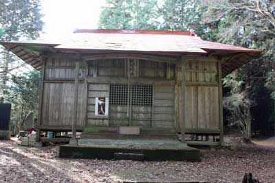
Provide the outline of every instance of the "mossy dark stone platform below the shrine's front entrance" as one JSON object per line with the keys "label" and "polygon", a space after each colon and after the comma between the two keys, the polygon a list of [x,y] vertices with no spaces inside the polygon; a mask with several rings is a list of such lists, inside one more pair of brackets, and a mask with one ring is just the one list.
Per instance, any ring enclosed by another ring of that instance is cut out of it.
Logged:
{"label": "mossy dark stone platform below the shrine's front entrance", "polygon": [[[115,159],[115,154],[135,154],[143,160],[199,161],[199,149],[179,141],[111,140],[82,138],[78,145],[62,145],[60,158]],[[122,156],[120,156],[122,157]],[[128,159],[128,158],[125,158]]]}

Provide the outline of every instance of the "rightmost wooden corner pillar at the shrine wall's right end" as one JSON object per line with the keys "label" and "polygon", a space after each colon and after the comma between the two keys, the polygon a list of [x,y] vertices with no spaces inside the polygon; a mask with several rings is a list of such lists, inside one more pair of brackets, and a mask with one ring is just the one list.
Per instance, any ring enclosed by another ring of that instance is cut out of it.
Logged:
{"label": "rightmost wooden corner pillar at the shrine wall's right end", "polygon": [[219,128],[220,135],[219,141],[220,144],[223,144],[223,82],[222,82],[222,72],[221,72],[221,62],[218,62],[218,71],[219,71]]}

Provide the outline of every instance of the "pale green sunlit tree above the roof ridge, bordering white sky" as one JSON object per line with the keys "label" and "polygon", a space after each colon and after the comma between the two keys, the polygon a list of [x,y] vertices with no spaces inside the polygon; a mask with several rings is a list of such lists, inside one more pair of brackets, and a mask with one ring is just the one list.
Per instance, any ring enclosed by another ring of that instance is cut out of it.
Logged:
{"label": "pale green sunlit tree above the roof ridge, bordering white sky", "polygon": [[99,27],[104,29],[157,29],[157,0],[108,0]]}

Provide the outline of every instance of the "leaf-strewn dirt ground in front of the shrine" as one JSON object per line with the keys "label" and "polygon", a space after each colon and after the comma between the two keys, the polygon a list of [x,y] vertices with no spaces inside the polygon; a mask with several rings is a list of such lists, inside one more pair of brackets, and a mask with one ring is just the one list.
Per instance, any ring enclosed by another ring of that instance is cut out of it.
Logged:
{"label": "leaf-strewn dirt ground in front of the shrine", "polygon": [[241,149],[204,149],[201,162],[135,162],[58,158],[58,146],[21,147],[0,141],[0,182],[241,182],[252,172],[260,182],[275,182],[275,138]]}

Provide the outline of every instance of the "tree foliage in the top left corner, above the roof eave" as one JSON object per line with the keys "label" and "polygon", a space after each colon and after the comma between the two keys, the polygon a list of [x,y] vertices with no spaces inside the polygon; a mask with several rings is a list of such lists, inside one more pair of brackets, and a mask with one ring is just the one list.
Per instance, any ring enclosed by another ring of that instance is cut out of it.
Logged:
{"label": "tree foliage in the top left corner, above the roof eave", "polygon": [[18,40],[21,37],[37,38],[42,30],[39,0],[1,0],[1,40]]}

